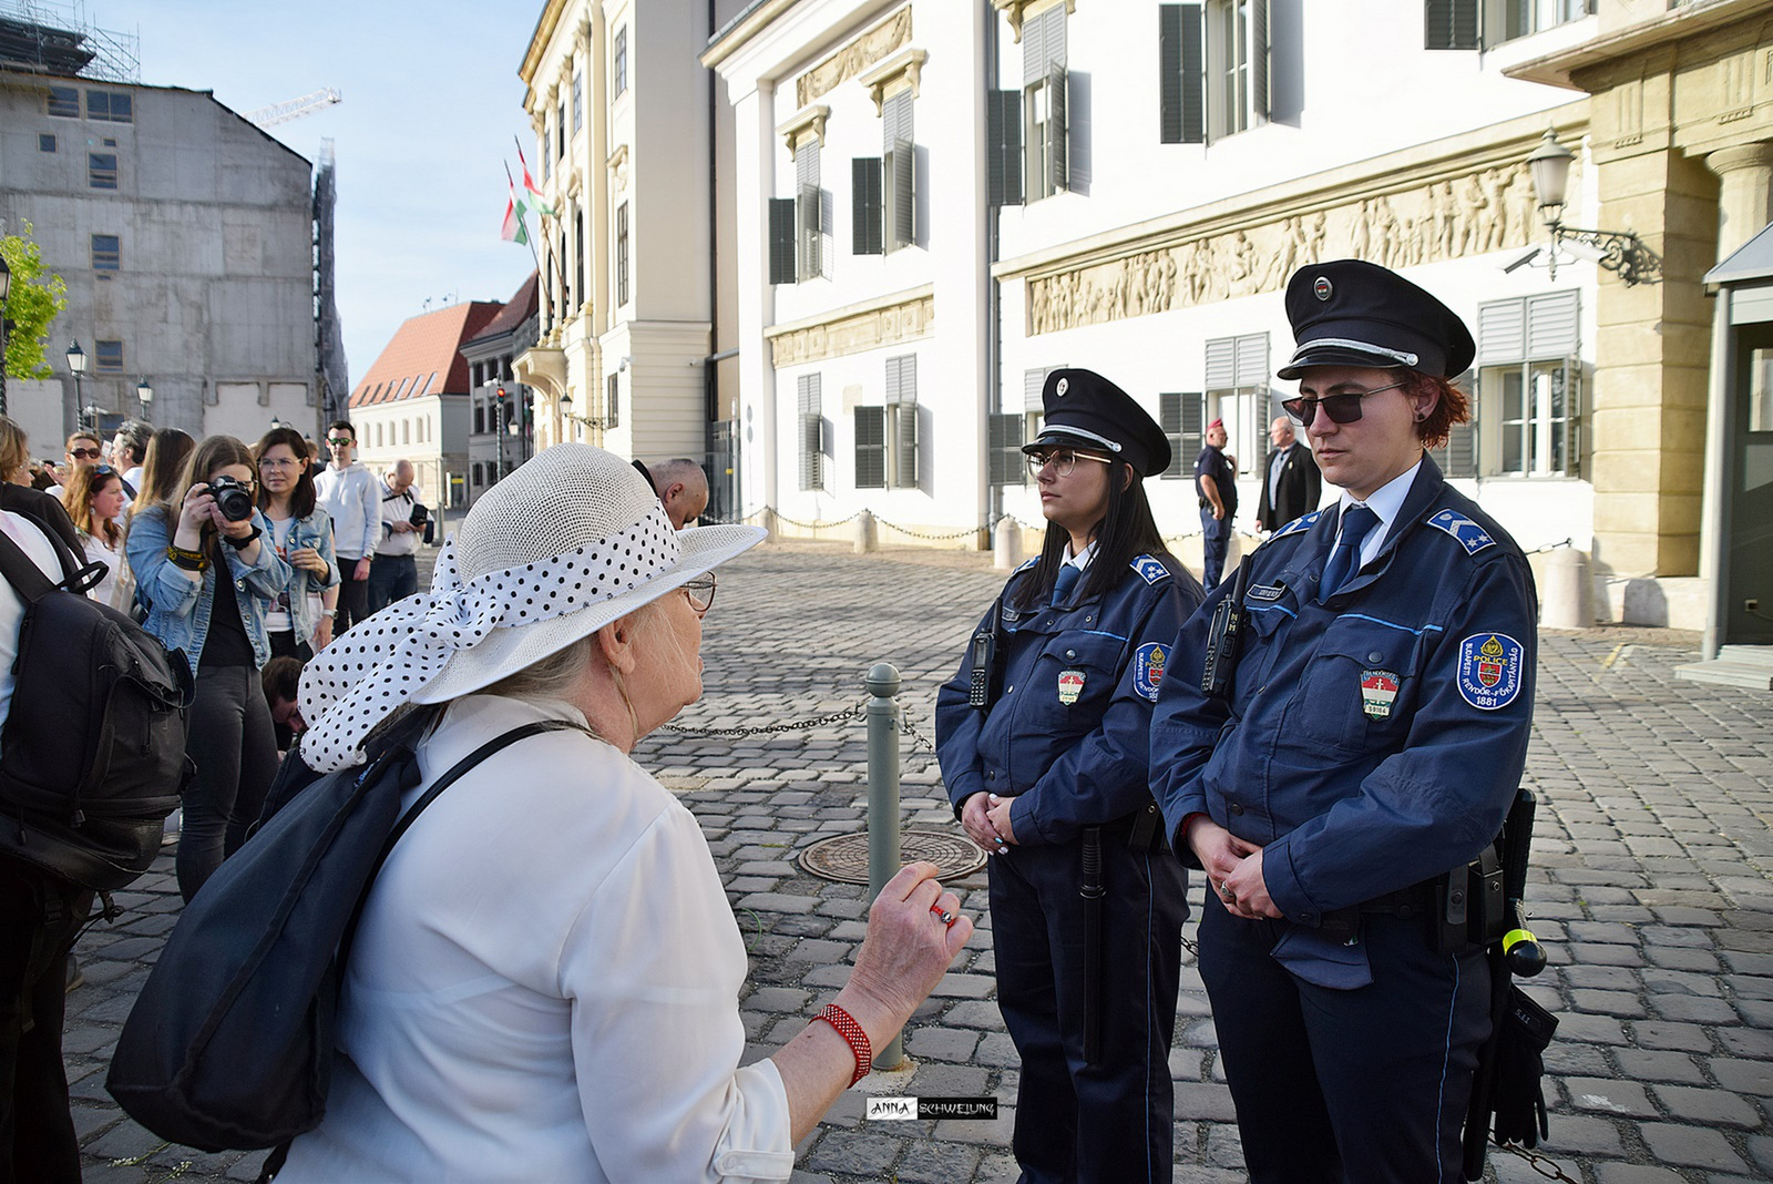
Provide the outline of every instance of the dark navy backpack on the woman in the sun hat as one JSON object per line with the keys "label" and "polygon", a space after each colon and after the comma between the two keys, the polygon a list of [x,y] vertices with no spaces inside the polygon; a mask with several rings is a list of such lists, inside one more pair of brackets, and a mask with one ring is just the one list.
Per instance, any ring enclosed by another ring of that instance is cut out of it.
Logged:
{"label": "dark navy backpack on the woman in the sun hat", "polygon": [[124,1023],[105,1081],[124,1113],[202,1150],[278,1147],[319,1126],[339,987],[381,863],[463,773],[573,727],[541,720],[489,739],[402,815],[433,720],[399,720],[363,766],[314,775],[300,748],[284,759],[271,799],[285,805],[184,906]]}

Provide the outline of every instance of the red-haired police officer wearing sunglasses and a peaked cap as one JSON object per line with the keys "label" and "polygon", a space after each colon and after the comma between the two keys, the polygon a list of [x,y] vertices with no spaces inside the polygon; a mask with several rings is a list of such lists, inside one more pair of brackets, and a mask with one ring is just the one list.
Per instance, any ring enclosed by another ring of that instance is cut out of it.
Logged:
{"label": "red-haired police officer wearing sunglasses and a peaked cap", "polygon": [[1207,876],[1200,973],[1252,1180],[1456,1180],[1489,973],[1449,888],[1527,762],[1534,583],[1424,452],[1466,418],[1459,317],[1360,261],[1298,271],[1287,317],[1282,406],[1342,496],[1183,631],[1151,783]]}

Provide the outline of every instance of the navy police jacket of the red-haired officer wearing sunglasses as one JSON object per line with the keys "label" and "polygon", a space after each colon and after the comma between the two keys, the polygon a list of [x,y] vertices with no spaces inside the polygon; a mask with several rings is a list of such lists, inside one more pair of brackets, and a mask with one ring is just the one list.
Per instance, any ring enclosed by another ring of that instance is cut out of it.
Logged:
{"label": "navy police jacket of the red-haired officer wearing sunglasses", "polygon": [[1252,557],[1229,700],[1200,691],[1220,597],[1177,638],[1152,714],[1151,787],[1177,854],[1195,812],[1262,847],[1293,922],[1275,957],[1310,982],[1371,982],[1324,913],[1466,865],[1496,838],[1527,764],[1534,580],[1514,541],[1427,456],[1381,551],[1330,597],[1339,509]]}

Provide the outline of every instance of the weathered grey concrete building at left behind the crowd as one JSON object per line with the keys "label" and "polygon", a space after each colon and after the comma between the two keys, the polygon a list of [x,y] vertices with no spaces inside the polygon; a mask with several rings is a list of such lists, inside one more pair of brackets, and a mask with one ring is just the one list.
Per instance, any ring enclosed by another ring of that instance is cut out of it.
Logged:
{"label": "weathered grey concrete building at left behind the crowd", "polygon": [[314,431],[310,165],[215,96],[0,60],[0,220],[28,222],[67,282],[59,378],[7,392],[35,452],[60,454],[80,406],[105,427],[138,417],[144,379],[156,425]]}

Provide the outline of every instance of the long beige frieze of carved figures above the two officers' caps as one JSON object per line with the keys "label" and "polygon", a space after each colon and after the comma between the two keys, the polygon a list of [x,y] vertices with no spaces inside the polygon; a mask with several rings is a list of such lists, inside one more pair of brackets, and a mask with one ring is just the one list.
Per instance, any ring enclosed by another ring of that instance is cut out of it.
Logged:
{"label": "long beige frieze of carved figures above the two officers' caps", "polygon": [[[1574,172],[1569,188],[1582,191]],[[1351,257],[1385,268],[1415,268],[1528,246],[1537,232],[1537,199],[1527,165],[1498,165],[1032,277],[1028,333],[1280,291],[1294,269],[1316,259]]]}

